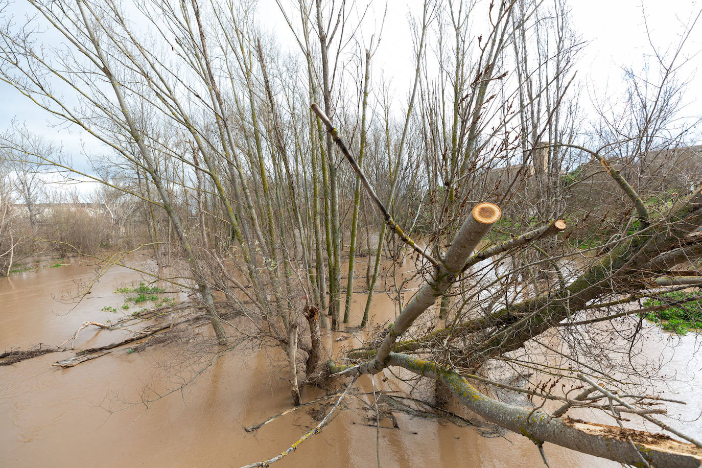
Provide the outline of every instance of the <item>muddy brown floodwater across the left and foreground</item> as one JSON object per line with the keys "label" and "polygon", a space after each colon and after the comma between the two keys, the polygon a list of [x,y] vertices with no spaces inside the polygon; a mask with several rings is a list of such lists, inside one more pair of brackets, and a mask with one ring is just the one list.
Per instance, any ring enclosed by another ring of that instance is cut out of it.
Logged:
{"label": "muddy brown floodwater across the left and foreground", "polygon": [[[115,288],[138,283],[131,270],[114,267],[92,284],[78,304],[68,301],[94,278],[88,265],[41,269],[0,279],[0,350],[43,342],[58,345],[83,321],[106,321],[124,298]],[[373,313],[392,317],[395,307],[377,293]],[[362,316],[366,295],[354,295],[351,325]],[[121,332],[81,332],[76,347],[117,341]],[[334,336],[350,336],[336,333]],[[332,338],[330,338],[331,340]],[[348,340],[351,342],[352,340]],[[331,342],[331,341],[330,341]],[[691,351],[691,350],[689,350]],[[677,351],[676,351],[677,352]],[[71,356],[54,353],[11,366],[0,366],[0,466],[2,467],[239,467],[265,460],[288,448],[316,422],[301,408],[246,433],[243,426],[263,422],[290,408],[285,373],[275,352],[232,352],[218,359],[194,385],[151,403],[150,398],[180,385],[168,368],[176,345],[130,353],[116,349],[95,361],[61,369],[51,363]],[[681,352],[682,354],[682,352]],[[383,386],[379,377],[363,376],[355,386],[359,398]],[[698,380],[686,389],[700,389]],[[306,388],[303,399],[322,395]],[[698,399],[699,400],[699,399]],[[373,467],[376,428],[355,403],[312,436],[277,467]],[[112,410],[110,412],[109,410]],[[486,438],[473,427],[396,414],[399,429],[387,420],[379,429],[382,467],[524,467],[543,466],[538,450],[523,436],[505,432]],[[611,463],[545,444],[551,467],[615,467]]]}

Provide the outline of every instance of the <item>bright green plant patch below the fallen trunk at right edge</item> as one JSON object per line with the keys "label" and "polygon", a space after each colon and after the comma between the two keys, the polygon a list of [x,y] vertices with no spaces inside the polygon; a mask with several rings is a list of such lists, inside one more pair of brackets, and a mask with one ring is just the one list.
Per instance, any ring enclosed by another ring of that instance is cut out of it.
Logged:
{"label": "bright green plant patch below the fallen trunk at right edge", "polygon": [[[684,291],[665,293],[661,295],[660,299],[647,299],[644,301],[644,307],[665,305],[670,303],[670,301],[686,300],[695,295],[698,295],[698,293]],[[643,316],[645,319],[656,323],[663,330],[668,330],[677,335],[687,335],[687,332],[691,330],[702,329],[702,300],[674,305],[670,309],[649,312],[648,314],[643,314]]]}

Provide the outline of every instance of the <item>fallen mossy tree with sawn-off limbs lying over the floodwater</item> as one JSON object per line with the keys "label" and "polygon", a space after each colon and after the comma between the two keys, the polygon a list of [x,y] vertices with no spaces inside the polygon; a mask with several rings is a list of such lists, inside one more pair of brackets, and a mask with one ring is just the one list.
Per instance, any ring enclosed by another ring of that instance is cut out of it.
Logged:
{"label": "fallen mossy tree with sawn-off limbs lying over the floodwater", "polygon": [[[312,108],[320,115],[326,124],[327,131],[332,133],[355,171],[360,172],[331,121],[318,107],[313,105]],[[614,179],[619,185],[625,187],[625,192],[637,201],[635,203],[637,206],[640,206],[640,199],[635,190],[623,182],[621,176]],[[370,188],[369,191],[371,191]],[[357,358],[362,357],[363,354],[370,354],[373,357],[369,361],[362,361],[352,366],[338,366],[330,361],[329,368],[332,375],[376,374],[390,366],[399,366],[417,375],[438,380],[453,392],[458,401],[477,415],[534,441],[542,455],[543,443],[550,442],[625,464],[675,467],[698,467],[702,464],[702,443],[672,429],[667,424],[645,416],[647,414],[645,410],[640,410],[638,413],[692,443],[682,443],[661,434],[625,429],[621,424],[621,427],[613,427],[571,420],[569,417],[562,417],[567,408],[557,410],[556,415],[550,415],[540,408],[508,405],[478,392],[457,370],[458,368],[480,368],[487,359],[524,347],[528,340],[575,316],[592,300],[648,288],[649,283],[642,281],[644,275],[660,273],[658,269],[663,264],[665,267],[674,266],[673,261],[662,262],[660,259],[669,259],[670,252],[702,225],[702,186],[697,187],[686,199],[680,201],[665,218],[651,224],[647,220],[646,225],[639,232],[629,236],[628,239],[623,239],[609,253],[592,262],[592,265],[569,286],[564,287],[562,274],[559,274],[561,287],[551,295],[537,296],[470,322],[456,321],[455,326],[432,333],[432,340],[415,340],[412,343],[413,346],[409,348],[407,347],[409,343],[402,343],[399,346],[404,350],[420,354],[424,351],[436,356],[432,344],[436,343],[437,337],[442,339],[444,345],[451,340],[461,340],[468,344],[447,349],[448,352],[442,356],[443,365],[438,360],[428,361],[393,352],[392,350],[397,347],[397,338],[406,333],[413,323],[427,312],[439,297],[442,297],[449,286],[459,281],[459,274],[466,272],[470,265],[477,263],[473,259],[486,260],[489,256],[534,241],[539,236],[557,234],[566,227],[562,221],[553,222],[546,227],[486,250],[491,255],[481,253],[472,255],[479,241],[498,221],[500,215],[500,209],[491,203],[476,205],[456,232],[440,263],[435,265],[430,279],[402,309],[392,328],[384,334],[380,345],[376,349],[369,350],[370,353],[366,351],[360,356],[358,353],[355,354]],[[406,239],[403,240],[408,242]],[[686,258],[689,260],[690,257]],[[658,269],[654,269],[654,265]],[[648,268],[644,269],[644,266]],[[697,277],[694,277],[694,280],[692,284],[698,281]],[[631,283],[635,285],[632,286]],[[654,283],[656,286],[680,285],[680,281],[655,281]],[[617,285],[622,286],[618,288]],[[486,330],[491,333],[486,333]],[[593,387],[597,387],[602,394],[607,394],[612,405],[611,399],[614,398],[612,394],[591,380],[587,381]],[[588,394],[592,393],[593,389],[588,390]],[[583,398],[585,396],[583,394]],[[567,403],[572,404],[570,401]],[[623,401],[621,403],[626,406],[626,410],[637,412],[628,403]],[[618,416],[618,410],[614,407],[612,407],[612,413]]]}

